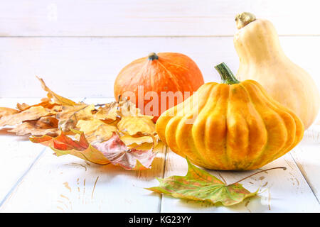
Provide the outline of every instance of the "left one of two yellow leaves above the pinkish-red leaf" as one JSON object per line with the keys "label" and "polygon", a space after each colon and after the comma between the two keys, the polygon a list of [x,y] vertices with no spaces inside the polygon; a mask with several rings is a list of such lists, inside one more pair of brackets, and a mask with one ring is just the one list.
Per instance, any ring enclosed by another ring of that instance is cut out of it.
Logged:
{"label": "left one of two yellow leaves above the pinkish-red leaf", "polygon": [[85,138],[92,143],[101,143],[112,137],[113,133],[117,131],[117,127],[109,125],[98,119],[80,120],[77,123],[79,131],[85,133]]}

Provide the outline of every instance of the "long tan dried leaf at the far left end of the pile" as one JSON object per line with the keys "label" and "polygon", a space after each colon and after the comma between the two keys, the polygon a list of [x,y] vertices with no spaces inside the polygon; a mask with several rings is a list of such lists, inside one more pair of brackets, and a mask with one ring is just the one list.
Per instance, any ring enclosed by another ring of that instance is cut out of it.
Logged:
{"label": "long tan dried leaf at the far left end of the pile", "polygon": [[18,114],[12,114],[4,116],[0,119],[0,127],[2,126],[14,126],[23,121],[31,121],[41,118],[43,116],[53,115],[50,109],[46,109],[43,106],[32,106],[25,111],[21,111]]}

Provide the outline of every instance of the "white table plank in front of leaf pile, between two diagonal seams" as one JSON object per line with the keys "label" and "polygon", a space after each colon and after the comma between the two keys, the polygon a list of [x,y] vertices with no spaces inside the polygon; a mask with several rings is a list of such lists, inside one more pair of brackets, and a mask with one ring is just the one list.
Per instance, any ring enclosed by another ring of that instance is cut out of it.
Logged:
{"label": "white table plank in front of leaf pile, between two diagonal seams", "polygon": [[55,157],[48,148],[0,212],[159,212],[160,196],[144,187],[162,177],[164,150],[151,170],[129,171],[71,155]]}

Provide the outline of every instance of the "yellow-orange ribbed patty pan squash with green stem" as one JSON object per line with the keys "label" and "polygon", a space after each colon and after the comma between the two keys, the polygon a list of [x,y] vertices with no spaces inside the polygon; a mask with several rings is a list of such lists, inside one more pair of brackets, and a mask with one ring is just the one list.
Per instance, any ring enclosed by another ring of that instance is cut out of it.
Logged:
{"label": "yellow-orange ribbed patty pan squash with green stem", "polygon": [[223,82],[203,84],[156,121],[174,153],[210,170],[255,170],[292,150],[304,125],[253,81],[238,81],[224,64]]}

